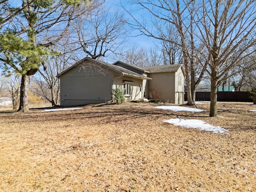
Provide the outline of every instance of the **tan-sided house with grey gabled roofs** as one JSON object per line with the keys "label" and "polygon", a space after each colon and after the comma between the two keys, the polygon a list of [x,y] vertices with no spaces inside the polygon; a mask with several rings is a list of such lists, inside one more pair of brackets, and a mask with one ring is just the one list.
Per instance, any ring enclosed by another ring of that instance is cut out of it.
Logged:
{"label": "tan-sided house with grey gabled roofs", "polygon": [[57,75],[60,105],[109,102],[115,88],[124,91],[126,100],[148,98],[150,90],[156,88],[163,102],[183,104],[184,74],[182,65],[139,68],[120,61],[108,64],[84,58]]}

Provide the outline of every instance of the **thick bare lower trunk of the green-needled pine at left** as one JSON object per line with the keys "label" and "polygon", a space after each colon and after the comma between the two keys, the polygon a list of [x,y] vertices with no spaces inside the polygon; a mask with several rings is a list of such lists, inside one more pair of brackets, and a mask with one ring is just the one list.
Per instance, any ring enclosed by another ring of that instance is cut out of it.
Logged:
{"label": "thick bare lower trunk of the green-needled pine at left", "polygon": [[20,107],[17,112],[28,112],[28,90],[29,90],[30,77],[26,74],[21,77],[20,84]]}

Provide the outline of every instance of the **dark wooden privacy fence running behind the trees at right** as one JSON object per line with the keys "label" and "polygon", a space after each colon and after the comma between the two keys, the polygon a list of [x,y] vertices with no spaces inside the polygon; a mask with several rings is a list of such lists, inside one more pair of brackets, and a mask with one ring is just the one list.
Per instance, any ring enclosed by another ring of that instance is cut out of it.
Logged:
{"label": "dark wooden privacy fence running behind the trees at right", "polygon": [[[184,95],[184,100],[187,100],[187,93]],[[210,101],[210,92],[196,92],[196,101]],[[217,101],[234,101],[234,102],[253,102],[249,98],[249,92],[217,92]]]}

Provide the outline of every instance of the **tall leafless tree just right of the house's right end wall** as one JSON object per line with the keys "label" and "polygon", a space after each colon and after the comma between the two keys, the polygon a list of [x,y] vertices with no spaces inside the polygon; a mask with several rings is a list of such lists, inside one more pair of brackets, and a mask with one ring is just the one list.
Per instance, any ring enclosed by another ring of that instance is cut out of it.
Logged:
{"label": "tall leafless tree just right of the house's right end wall", "polygon": [[[200,66],[200,69],[196,71],[200,51],[204,49],[204,46],[198,43],[198,38],[194,35],[196,26],[193,20],[194,12],[196,12],[195,3],[195,1],[183,1],[181,3],[180,0],[133,0],[132,6],[140,6],[152,16],[150,21],[146,20],[144,22],[140,22],[140,19],[134,16],[135,14],[130,11],[132,8],[130,10],[125,8],[134,19],[134,22],[130,22],[130,26],[146,36],[175,44],[181,50],[182,62],[186,72],[188,105],[195,104],[195,90],[202,80],[205,70]],[[170,30],[168,32],[168,28],[165,26],[176,28],[178,40],[170,38]],[[206,66],[207,58],[204,61],[204,66]]]}

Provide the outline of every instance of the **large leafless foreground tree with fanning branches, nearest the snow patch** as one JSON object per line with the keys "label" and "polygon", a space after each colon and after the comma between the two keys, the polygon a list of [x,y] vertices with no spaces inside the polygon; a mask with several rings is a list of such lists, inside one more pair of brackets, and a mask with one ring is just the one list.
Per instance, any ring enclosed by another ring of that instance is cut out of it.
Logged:
{"label": "large leafless foreground tree with fanning branches, nearest the snow patch", "polygon": [[227,72],[242,60],[255,64],[250,55],[256,51],[256,4],[254,0],[203,0],[198,7],[193,22],[206,47],[201,53],[210,58],[205,67],[211,78],[210,116],[217,116],[218,85],[234,75]]}

